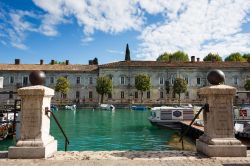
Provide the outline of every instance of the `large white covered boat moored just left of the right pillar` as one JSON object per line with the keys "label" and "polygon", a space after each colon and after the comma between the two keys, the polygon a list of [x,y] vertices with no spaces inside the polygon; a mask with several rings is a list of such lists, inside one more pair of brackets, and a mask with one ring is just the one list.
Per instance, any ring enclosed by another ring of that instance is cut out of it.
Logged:
{"label": "large white covered boat moored just left of the right pillar", "polygon": [[193,106],[161,106],[151,109],[151,116],[148,120],[152,125],[165,126],[169,128],[179,128],[178,122],[192,120],[194,118]]}

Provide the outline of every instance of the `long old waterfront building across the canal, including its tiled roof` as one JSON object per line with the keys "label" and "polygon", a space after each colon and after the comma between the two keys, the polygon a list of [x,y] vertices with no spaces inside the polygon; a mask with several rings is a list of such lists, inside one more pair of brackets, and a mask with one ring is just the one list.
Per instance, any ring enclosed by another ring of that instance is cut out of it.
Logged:
{"label": "long old waterfront building across the canal, including its tiled roof", "polygon": [[[203,101],[198,89],[209,85],[206,76],[211,69],[220,69],[225,73],[225,84],[244,90],[246,78],[250,77],[248,62],[158,62],[158,61],[119,61],[103,65],[72,65],[65,64],[0,64],[0,77],[4,78],[2,92],[16,92],[18,88],[29,86],[29,73],[41,70],[46,74],[45,86],[54,88],[59,77],[69,80],[70,90],[67,95],[56,93],[52,102],[58,104],[96,105],[100,101],[95,86],[98,76],[112,79],[112,94],[104,97],[105,103],[140,104],[141,94],[135,88],[135,77],[147,74],[151,88],[143,92],[144,104],[167,105],[177,103],[172,92],[175,78],[183,78],[188,83],[188,91],[181,95],[182,103],[201,104]],[[166,90],[169,84],[170,90]],[[16,94],[1,94],[2,102],[10,102]],[[246,95],[239,100],[247,100]]]}

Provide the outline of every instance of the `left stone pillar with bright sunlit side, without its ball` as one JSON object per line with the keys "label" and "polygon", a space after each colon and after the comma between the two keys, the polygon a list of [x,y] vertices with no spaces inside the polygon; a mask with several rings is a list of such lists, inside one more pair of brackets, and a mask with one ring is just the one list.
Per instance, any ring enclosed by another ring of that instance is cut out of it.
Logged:
{"label": "left stone pillar with bright sunlit side, without its ball", "polygon": [[57,151],[57,141],[50,132],[50,108],[54,90],[36,85],[18,89],[21,97],[20,140],[9,148],[9,158],[46,158]]}

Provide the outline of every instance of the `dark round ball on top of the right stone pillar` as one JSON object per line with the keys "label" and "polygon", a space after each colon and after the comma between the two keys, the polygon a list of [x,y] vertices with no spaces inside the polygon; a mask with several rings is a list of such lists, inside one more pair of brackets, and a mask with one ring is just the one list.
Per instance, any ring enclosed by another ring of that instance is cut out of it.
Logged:
{"label": "dark round ball on top of the right stone pillar", "polygon": [[208,73],[207,80],[212,85],[219,85],[225,82],[225,74],[221,70],[214,69]]}

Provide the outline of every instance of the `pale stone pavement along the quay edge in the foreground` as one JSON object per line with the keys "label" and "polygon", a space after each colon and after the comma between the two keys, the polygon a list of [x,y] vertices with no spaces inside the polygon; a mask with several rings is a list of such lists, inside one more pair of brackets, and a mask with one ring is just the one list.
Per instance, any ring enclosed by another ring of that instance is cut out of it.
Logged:
{"label": "pale stone pavement along the quay edge in the foreground", "polygon": [[0,166],[250,166],[247,157],[206,157],[190,151],[57,152],[47,159],[0,159]]}

